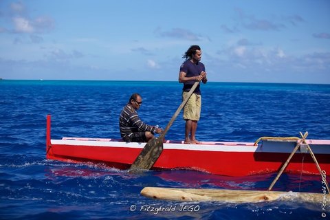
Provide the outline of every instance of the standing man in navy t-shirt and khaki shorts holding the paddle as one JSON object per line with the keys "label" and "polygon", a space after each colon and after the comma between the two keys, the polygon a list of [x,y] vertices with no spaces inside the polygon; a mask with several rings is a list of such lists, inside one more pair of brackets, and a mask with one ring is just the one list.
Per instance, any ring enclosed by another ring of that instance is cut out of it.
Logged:
{"label": "standing man in navy t-shirt and khaki shorts holding the paddle", "polygon": [[[201,47],[198,45],[190,46],[182,58],[185,58],[186,61],[180,67],[179,83],[184,83],[182,89],[182,98],[184,99],[195,82],[202,81],[205,84],[208,79],[206,78],[205,66],[200,62]],[[184,120],[186,120],[185,144],[201,144],[195,137],[197,122],[201,115],[201,91],[199,86],[196,87],[184,106]]]}

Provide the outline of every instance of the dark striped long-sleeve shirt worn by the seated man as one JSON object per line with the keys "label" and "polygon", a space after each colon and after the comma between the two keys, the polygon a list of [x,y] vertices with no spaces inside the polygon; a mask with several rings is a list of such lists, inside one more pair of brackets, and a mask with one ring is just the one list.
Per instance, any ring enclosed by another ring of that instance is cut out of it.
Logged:
{"label": "dark striped long-sleeve shirt worn by the seated man", "polygon": [[151,131],[153,132],[153,126],[145,124],[140,120],[139,115],[135,109],[131,106],[131,104],[126,104],[126,106],[122,109],[122,113],[120,113],[119,118],[119,127],[120,127],[120,135],[122,137],[126,137],[131,133],[138,131]]}

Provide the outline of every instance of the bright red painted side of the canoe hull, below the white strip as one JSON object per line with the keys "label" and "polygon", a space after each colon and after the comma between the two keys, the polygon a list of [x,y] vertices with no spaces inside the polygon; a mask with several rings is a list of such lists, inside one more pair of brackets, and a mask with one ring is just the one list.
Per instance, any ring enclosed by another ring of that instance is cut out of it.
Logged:
{"label": "bright red painted side of the canoe hull, below the white strip", "polygon": [[[142,148],[51,144],[47,159],[97,162],[126,169],[131,166],[140,151]],[[245,176],[276,172],[288,157],[289,153],[166,149],[164,144],[164,150],[153,169],[187,168],[217,175]],[[320,168],[330,173],[329,155],[317,154],[316,158]],[[286,171],[319,174],[309,153],[295,154]]]}

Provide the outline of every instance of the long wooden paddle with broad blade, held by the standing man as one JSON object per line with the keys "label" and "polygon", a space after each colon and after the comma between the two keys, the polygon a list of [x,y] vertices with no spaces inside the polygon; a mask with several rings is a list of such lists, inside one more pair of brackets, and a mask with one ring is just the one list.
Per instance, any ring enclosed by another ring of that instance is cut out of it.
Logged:
{"label": "long wooden paddle with broad blade, held by the standing man", "polygon": [[192,88],[188,92],[186,98],[180,104],[179,108],[177,108],[177,111],[175,111],[175,114],[172,116],[172,118],[170,119],[170,122],[168,122],[166,128],[161,133],[161,135],[159,135],[159,137],[157,137],[157,138],[153,138],[153,139],[149,140],[148,143],[146,143],[146,145],[142,149],[140,155],[138,155],[136,157],[135,161],[133,162],[133,164],[130,168],[131,170],[137,170],[137,169],[148,170],[153,166],[153,164],[155,164],[159,155],[163,151],[163,140],[164,140],[164,137],[165,137],[168,129],[170,129],[170,126],[172,126],[173,122],[175,121],[175,118],[177,118],[177,115],[179,115],[181,109],[188,102],[188,99],[190,98],[192,93],[195,91],[197,85],[199,85],[199,81],[195,82],[195,84],[192,85]]}

